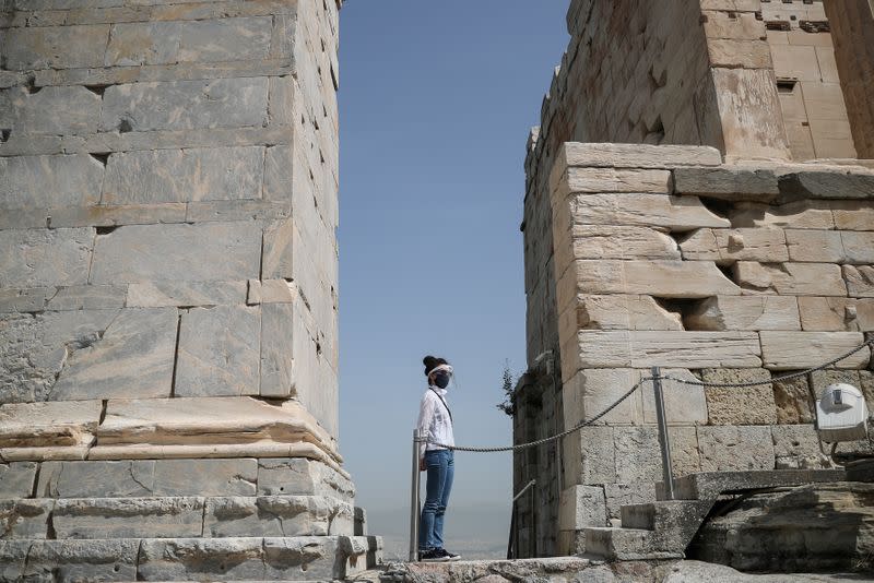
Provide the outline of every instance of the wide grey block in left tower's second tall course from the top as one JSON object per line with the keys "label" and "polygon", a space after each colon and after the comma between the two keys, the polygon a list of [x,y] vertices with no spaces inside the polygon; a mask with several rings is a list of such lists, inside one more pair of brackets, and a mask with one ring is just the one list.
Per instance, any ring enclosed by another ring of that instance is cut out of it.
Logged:
{"label": "wide grey block in left tower's second tall course from the top", "polygon": [[101,131],[192,130],[265,126],[267,78],[111,85]]}

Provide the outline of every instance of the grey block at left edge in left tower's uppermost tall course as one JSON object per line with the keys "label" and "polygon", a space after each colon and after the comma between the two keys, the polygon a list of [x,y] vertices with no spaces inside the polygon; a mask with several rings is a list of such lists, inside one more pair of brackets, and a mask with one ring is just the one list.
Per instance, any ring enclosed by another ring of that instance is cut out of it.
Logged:
{"label": "grey block at left edge in left tower's uppermost tall course", "polygon": [[4,69],[72,69],[102,67],[108,24],[8,28],[0,56]]}

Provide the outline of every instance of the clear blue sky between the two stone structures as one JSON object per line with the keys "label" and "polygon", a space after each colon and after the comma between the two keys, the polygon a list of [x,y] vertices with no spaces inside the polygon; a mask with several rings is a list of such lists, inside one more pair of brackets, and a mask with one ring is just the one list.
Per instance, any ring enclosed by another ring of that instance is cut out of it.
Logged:
{"label": "clear blue sky between the two stone structures", "polygon": [[[505,360],[525,368],[524,146],[567,4],[349,0],[341,12],[340,443],[373,534],[406,528],[425,354],[456,368],[456,441],[511,441],[495,404]],[[456,460],[448,548],[500,548],[511,454]]]}

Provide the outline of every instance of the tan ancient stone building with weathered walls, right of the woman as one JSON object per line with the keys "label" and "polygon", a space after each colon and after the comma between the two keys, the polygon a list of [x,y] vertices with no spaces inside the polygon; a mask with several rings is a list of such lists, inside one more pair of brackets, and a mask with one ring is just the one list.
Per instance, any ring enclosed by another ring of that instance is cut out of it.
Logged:
{"label": "tan ancient stone building with weathered walls, right of the woman", "polygon": [[[534,503],[520,504],[522,555],[677,557],[721,491],[759,479],[718,473],[786,471],[759,487],[848,478],[814,472],[830,461],[812,403],[835,381],[874,403],[870,348],[767,381],[874,331],[873,12],[867,0],[570,3],[571,40],[528,144],[516,441],[577,426],[650,367],[766,384],[665,383],[687,504],[652,503],[664,492],[650,385],[597,425],[519,452],[515,489],[538,480]],[[682,512],[695,528],[660,538],[660,521]],[[743,537],[722,537],[714,560],[746,552],[732,547]]]}

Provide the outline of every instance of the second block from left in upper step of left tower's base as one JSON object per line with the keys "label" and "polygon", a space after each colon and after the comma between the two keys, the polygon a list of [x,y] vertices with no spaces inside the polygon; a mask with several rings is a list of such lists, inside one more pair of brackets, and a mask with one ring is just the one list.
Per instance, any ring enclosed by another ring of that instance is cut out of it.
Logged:
{"label": "second block from left in upper step of left tower's base", "polygon": [[201,536],[203,498],[58,499],[51,523],[61,538]]}

